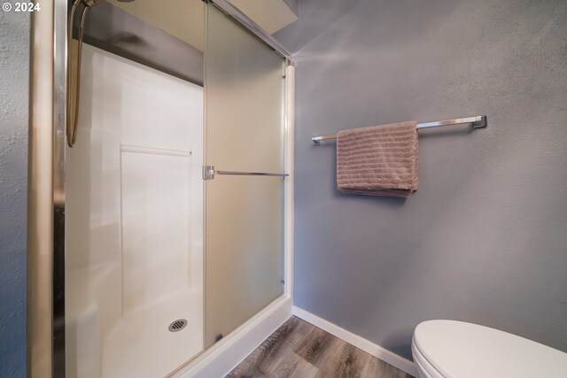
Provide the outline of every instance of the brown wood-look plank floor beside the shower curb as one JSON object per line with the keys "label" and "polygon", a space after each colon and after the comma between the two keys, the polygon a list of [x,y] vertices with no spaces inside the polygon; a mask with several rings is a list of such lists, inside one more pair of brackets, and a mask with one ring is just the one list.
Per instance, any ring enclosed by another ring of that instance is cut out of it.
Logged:
{"label": "brown wood-look plank floor beside the shower curb", "polygon": [[228,378],[412,378],[295,316],[277,328]]}

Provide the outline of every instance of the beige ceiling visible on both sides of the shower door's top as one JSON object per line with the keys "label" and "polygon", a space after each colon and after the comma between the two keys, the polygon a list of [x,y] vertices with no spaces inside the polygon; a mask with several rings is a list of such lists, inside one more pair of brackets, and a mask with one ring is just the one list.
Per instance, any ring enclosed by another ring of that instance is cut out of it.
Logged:
{"label": "beige ceiling visible on both sides of the shower door's top", "polygon": [[[131,3],[108,1],[151,26],[159,27],[198,50],[203,50],[205,4],[202,0],[136,0]],[[298,19],[283,0],[231,0],[230,3],[269,34],[276,33]]]}

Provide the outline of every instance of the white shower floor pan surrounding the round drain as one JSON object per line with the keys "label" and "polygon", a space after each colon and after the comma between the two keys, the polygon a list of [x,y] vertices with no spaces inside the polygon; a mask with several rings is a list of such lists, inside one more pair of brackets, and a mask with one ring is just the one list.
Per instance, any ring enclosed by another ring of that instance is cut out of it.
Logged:
{"label": "white shower floor pan surrounding the round drain", "polygon": [[[103,376],[163,377],[203,347],[202,290],[185,289],[157,305],[128,314],[105,337]],[[180,331],[169,324],[188,320]]]}

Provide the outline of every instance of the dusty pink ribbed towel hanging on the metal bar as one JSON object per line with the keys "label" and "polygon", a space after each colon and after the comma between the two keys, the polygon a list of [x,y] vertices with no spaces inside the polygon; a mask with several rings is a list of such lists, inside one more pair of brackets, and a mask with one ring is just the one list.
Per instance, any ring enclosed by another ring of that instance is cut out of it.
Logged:
{"label": "dusty pink ribbed towel hanging on the metal bar", "polygon": [[409,197],[417,190],[417,122],[352,128],[337,135],[337,187],[344,193]]}

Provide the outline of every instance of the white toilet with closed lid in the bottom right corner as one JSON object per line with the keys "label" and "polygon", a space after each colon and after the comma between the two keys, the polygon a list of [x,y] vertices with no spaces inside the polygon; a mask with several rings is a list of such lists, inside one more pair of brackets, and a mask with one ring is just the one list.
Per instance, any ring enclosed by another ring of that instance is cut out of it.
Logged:
{"label": "white toilet with closed lid in the bottom right corner", "polygon": [[420,378],[567,377],[567,353],[462,321],[423,321],[411,347]]}

